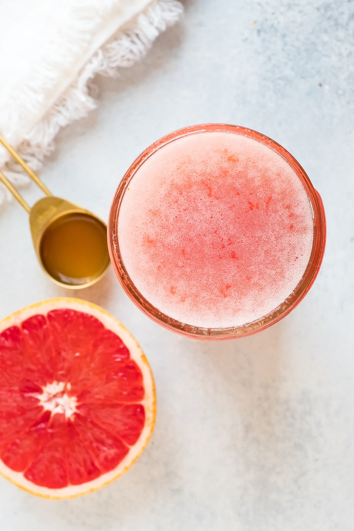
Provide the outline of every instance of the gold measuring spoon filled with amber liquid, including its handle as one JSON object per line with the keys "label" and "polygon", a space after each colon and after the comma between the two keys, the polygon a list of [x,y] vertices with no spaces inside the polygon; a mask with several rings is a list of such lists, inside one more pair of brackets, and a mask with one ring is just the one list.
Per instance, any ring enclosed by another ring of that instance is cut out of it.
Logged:
{"label": "gold measuring spoon filled with amber liquid, including its handle", "polygon": [[54,197],[2,135],[0,142],[46,194],[31,208],[0,171],[0,180],[29,212],[33,245],[42,269],[59,286],[91,286],[105,275],[110,264],[107,226],[88,210]]}

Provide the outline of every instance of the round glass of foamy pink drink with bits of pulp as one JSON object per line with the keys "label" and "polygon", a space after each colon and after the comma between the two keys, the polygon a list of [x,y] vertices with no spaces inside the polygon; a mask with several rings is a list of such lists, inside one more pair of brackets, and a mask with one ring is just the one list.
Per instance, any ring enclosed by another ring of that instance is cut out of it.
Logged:
{"label": "round glass of foamy pink drink with bits of pulp", "polygon": [[295,305],[314,252],[308,178],[258,133],[220,125],[184,131],[143,153],[120,196],[113,241],[133,286],[127,292],[177,331],[252,333]]}

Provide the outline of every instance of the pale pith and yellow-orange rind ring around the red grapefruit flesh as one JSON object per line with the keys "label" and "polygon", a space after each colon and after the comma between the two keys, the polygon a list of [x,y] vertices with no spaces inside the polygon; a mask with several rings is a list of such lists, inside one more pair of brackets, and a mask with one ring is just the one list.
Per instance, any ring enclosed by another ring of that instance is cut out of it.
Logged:
{"label": "pale pith and yellow-orange rind ring around the red grapefruit flesh", "polygon": [[3,477],[24,491],[51,500],[76,498],[77,496],[94,492],[122,476],[135,463],[137,458],[140,457],[141,453],[147,446],[156,421],[156,389],[148,360],[146,359],[140,345],[137,343],[131,332],[129,332],[125,326],[113,315],[102,309],[100,306],[72,297],[48,299],[46,301],[32,304],[23,308],[22,310],[18,310],[11,315],[8,315],[5,319],[0,321],[0,333],[8,327],[19,326],[21,322],[29,319],[32,315],[46,315],[51,310],[63,308],[93,315],[103,324],[103,326],[105,326],[105,328],[113,331],[117,334],[117,336],[120,337],[120,339],[122,339],[125,346],[129,350],[131,359],[137,363],[143,375],[144,398],[140,401],[140,404],[144,406],[145,423],[139,439],[129,449],[127,455],[122,459],[122,461],[120,461],[116,468],[105,474],[102,474],[92,481],[83,483],[81,485],[68,485],[62,489],[49,489],[47,487],[42,487],[30,482],[23,476],[21,472],[15,472],[11,468],[7,467],[0,459],[0,474]]}

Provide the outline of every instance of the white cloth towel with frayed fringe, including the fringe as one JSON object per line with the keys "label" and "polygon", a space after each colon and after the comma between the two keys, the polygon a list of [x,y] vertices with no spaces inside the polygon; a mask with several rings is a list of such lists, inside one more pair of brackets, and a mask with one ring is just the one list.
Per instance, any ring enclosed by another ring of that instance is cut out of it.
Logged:
{"label": "white cloth towel with frayed fringe, including the fringe", "polygon": [[[0,132],[33,169],[59,129],[96,107],[88,81],[142,58],[177,0],[12,0],[0,6]],[[13,184],[27,179],[0,146]],[[0,184],[0,203],[9,197]]]}

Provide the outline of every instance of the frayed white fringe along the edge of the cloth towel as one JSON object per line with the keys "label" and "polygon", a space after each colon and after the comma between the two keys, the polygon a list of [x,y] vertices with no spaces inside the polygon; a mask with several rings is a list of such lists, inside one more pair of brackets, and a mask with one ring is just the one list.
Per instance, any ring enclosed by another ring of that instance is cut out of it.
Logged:
{"label": "frayed white fringe along the edge of the cloth towel", "polygon": [[[44,158],[54,150],[54,139],[62,127],[83,118],[97,107],[92,97],[92,79],[97,75],[116,76],[120,68],[132,66],[142,59],[153,41],[169,26],[175,24],[183,13],[178,0],[155,0],[132,25],[110,39],[91,57],[73,83],[50,109],[47,115],[33,127],[17,151],[27,164],[37,171]],[[31,95],[29,94],[29,99]],[[8,160],[2,168],[14,185],[23,187],[29,178],[20,168]],[[0,183],[0,204],[11,199],[11,194]]]}

